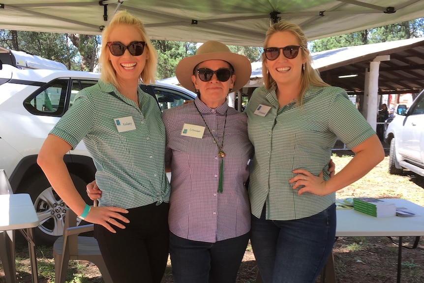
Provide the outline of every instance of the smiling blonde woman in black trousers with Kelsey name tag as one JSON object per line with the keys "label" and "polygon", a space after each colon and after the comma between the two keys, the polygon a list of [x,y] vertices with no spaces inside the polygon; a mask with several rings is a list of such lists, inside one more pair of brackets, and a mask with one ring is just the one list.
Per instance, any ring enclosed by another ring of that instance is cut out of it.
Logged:
{"label": "smiling blonde woman in black trousers with Kelsey name tag", "polygon": [[[155,99],[139,88],[140,79],[154,81],[156,51],[143,23],[125,11],[112,18],[102,40],[99,82],[76,95],[37,161],[63,201],[95,223],[114,283],[160,283],[169,245],[165,127]],[[84,202],[63,162],[81,140],[103,191],[98,207]]]}

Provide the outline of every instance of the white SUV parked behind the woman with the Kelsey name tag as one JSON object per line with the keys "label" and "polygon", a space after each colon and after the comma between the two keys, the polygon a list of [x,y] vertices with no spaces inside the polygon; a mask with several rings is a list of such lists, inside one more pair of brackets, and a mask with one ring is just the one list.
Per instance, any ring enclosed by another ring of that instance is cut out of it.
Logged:
{"label": "white SUV parked behind the woman with the Kelsey name tag", "polygon": [[[1,69],[2,67],[2,69]],[[0,169],[15,193],[29,193],[40,220],[37,244],[52,244],[62,234],[66,205],[37,165],[38,151],[80,90],[97,82],[99,74],[69,70],[18,69],[0,63]],[[178,86],[140,85],[156,97],[159,107],[175,107],[196,94]],[[94,180],[95,167],[83,143],[64,160],[83,198]]]}

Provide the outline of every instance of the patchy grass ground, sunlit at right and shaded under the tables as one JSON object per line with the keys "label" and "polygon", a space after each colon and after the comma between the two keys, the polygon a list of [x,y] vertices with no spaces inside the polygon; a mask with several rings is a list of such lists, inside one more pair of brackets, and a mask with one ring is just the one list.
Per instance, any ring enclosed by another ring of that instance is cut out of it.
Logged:
{"label": "patchy grass ground, sunlit at right and shaded under the tables", "polygon": [[[350,159],[341,152],[333,155],[336,172],[340,171]],[[408,171],[401,176],[388,173],[389,157],[375,166],[361,180],[339,190],[337,198],[376,197],[403,198],[424,206],[424,178]],[[423,216],[424,217],[424,216]],[[411,237],[412,238],[412,237]],[[394,242],[397,238],[394,237]],[[408,239],[405,239],[407,242]],[[413,239],[410,239],[413,241]],[[424,240],[418,249],[403,249],[402,282],[424,282]],[[395,282],[397,246],[385,237],[339,237],[334,245],[334,264],[338,282],[343,283],[383,283]],[[55,283],[54,260],[51,247],[37,247],[37,262],[40,283]],[[252,254],[251,246],[246,254]],[[257,267],[254,257],[246,257],[242,262],[237,283],[254,283]],[[171,267],[168,261],[162,283],[171,283]],[[17,245],[16,267],[19,283],[30,283],[30,263],[26,244]],[[390,270],[390,272],[389,272]],[[101,274],[96,266],[87,261],[71,261],[67,273],[67,283],[102,283]],[[0,266],[0,283],[5,283]]]}

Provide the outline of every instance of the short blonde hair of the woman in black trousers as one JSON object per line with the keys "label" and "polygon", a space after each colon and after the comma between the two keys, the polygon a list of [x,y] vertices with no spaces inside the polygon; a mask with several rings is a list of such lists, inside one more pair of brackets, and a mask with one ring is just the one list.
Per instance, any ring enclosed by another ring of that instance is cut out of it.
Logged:
{"label": "short blonde hair of the woman in black trousers", "polygon": [[133,26],[139,31],[141,37],[143,38],[143,41],[146,42],[144,52],[148,52],[149,57],[146,60],[146,65],[144,66],[143,71],[140,74],[140,78],[142,79],[144,84],[154,83],[156,78],[157,64],[156,50],[154,49],[149,37],[146,34],[146,31],[143,27],[143,22],[128,13],[127,11],[119,11],[118,13],[116,13],[110,21],[109,25],[102,31],[102,48],[99,58],[100,78],[105,83],[112,83],[117,87],[119,86],[118,80],[116,78],[115,69],[109,60],[109,47],[106,44],[108,41],[110,41],[109,38],[112,30],[118,25]]}

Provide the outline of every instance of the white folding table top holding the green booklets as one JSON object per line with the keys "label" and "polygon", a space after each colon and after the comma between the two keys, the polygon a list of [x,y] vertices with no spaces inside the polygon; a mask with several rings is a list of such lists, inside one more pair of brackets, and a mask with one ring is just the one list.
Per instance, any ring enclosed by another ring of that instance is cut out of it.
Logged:
{"label": "white folding table top holding the green booklets", "polygon": [[[421,216],[374,217],[354,209],[337,209],[337,237],[424,236],[424,207],[405,199],[385,199]],[[342,202],[341,200],[338,200]]]}

